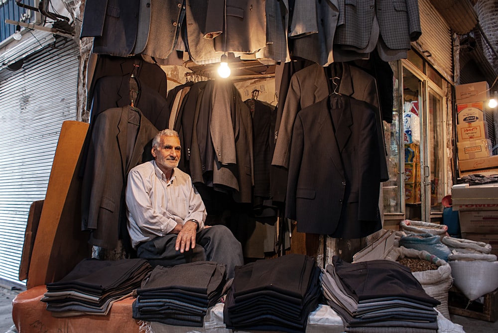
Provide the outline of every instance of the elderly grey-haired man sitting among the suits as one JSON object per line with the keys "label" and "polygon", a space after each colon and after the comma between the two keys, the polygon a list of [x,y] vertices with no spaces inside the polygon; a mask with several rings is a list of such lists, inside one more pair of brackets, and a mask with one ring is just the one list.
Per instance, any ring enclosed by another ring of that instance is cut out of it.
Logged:
{"label": "elderly grey-haired man sitting among the suits", "polygon": [[164,129],[152,141],[153,161],[128,174],[128,232],[139,258],[173,266],[210,260],[227,265],[227,277],[243,265],[241,243],[224,225],[205,226],[206,208],[190,176],[178,169],[178,133]]}

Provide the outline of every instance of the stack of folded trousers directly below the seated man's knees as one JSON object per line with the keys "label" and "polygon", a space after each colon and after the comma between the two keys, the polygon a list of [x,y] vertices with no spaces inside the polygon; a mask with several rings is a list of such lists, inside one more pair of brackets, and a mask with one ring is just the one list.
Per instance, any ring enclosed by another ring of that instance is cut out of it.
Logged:
{"label": "stack of folded trousers directly below the seated man's knees", "polygon": [[222,296],[226,266],[196,261],[156,266],[135,291],[133,318],[167,325],[202,327],[209,307]]}

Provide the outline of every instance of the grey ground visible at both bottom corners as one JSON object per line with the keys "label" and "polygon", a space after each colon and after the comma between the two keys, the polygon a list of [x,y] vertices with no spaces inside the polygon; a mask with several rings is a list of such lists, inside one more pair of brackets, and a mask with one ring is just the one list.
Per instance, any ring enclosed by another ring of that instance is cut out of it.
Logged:
{"label": "grey ground visible at both bottom corners", "polygon": [[[17,333],[12,322],[12,300],[20,291],[0,287],[0,333]],[[498,322],[490,323],[451,315],[451,321],[460,324],[466,333],[496,333]]]}

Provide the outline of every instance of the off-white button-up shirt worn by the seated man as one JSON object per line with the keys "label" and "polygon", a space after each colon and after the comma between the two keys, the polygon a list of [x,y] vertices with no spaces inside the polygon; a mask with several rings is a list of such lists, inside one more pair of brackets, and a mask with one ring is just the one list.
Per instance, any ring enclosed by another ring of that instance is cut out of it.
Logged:
{"label": "off-white button-up shirt worn by the seated man", "polygon": [[189,220],[204,228],[206,207],[188,174],[174,168],[169,181],[155,161],[137,165],[126,185],[128,232],[133,248],[168,234],[177,223]]}

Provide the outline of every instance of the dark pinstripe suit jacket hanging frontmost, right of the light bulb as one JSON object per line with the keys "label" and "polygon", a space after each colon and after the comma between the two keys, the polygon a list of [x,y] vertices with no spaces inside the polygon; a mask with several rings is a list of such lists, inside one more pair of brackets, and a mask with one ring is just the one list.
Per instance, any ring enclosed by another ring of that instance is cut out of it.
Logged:
{"label": "dark pinstripe suit jacket hanging frontmost, right of the light bulb", "polygon": [[375,118],[371,105],[339,95],[297,114],[285,215],[299,232],[361,238],[380,229]]}

